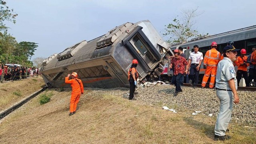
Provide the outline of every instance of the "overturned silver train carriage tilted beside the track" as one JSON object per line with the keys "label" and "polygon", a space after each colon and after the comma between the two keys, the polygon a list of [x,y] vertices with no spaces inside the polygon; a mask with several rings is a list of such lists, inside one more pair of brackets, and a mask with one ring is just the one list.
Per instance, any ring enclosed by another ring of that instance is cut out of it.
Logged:
{"label": "overturned silver train carriage tilted beside the track", "polygon": [[47,86],[69,87],[65,77],[77,72],[85,87],[128,87],[132,60],[139,62],[139,80],[157,78],[167,62],[164,56],[172,55],[168,46],[150,21],[127,22],[50,56],[40,72]]}

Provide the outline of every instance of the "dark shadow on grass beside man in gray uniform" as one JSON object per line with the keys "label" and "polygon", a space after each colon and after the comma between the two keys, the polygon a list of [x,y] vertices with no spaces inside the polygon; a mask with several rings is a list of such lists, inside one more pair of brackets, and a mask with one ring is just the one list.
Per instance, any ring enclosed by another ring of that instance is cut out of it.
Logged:
{"label": "dark shadow on grass beside man in gray uniform", "polygon": [[194,120],[193,117],[186,117],[184,118],[184,121],[189,124],[190,126],[194,127],[195,129],[201,130],[208,138],[213,139],[214,137],[214,128],[215,125],[209,125],[205,124],[203,122],[200,122],[198,120]]}

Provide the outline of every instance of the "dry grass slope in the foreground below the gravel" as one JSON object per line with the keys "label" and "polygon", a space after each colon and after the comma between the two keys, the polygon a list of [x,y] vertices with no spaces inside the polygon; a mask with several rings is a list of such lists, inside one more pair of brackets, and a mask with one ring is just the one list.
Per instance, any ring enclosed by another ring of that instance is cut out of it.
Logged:
{"label": "dry grass slope in the foreground below the gravel", "polygon": [[127,89],[86,89],[79,109],[68,116],[70,89],[50,89],[2,120],[0,142],[43,144],[255,144],[255,127],[231,123],[231,140],[213,141],[216,118],[173,113],[162,106],[129,101]]}

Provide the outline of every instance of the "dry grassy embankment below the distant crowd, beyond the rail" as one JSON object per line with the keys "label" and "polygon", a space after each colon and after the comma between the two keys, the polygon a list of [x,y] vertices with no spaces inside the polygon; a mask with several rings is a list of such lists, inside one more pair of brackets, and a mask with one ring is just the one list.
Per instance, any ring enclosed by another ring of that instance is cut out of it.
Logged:
{"label": "dry grassy embankment below the distant crowd, beyond the rail", "polygon": [[42,77],[0,83],[0,112],[45,86]]}

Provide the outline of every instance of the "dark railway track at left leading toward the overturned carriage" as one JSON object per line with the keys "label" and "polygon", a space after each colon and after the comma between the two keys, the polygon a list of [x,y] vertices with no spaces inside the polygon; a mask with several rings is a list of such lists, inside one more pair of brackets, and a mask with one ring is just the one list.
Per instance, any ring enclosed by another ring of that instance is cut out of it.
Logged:
{"label": "dark railway track at left leading toward the overturned carriage", "polygon": [[19,102],[18,104],[15,104],[14,106],[8,108],[7,110],[4,110],[4,112],[0,113],[0,120],[2,118],[4,118],[5,116],[7,116],[8,114],[10,114],[11,112],[13,112],[14,110],[16,110],[17,108],[19,108],[20,106],[22,106],[23,104],[26,104],[26,102],[28,102],[29,100],[31,100],[32,98],[34,98],[35,96],[37,96],[38,94],[40,94],[41,92],[43,92],[44,90],[46,90],[48,87],[45,86],[44,88],[34,92],[33,94],[31,94],[30,96],[28,96],[26,99],[22,100],[21,102]]}

